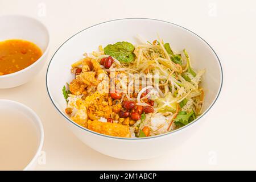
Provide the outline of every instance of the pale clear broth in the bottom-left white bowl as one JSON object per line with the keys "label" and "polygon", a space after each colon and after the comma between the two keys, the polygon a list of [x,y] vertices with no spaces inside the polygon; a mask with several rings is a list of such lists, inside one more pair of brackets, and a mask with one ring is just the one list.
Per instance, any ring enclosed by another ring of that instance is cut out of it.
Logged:
{"label": "pale clear broth in the bottom-left white bowl", "polygon": [[38,148],[36,126],[19,111],[0,110],[0,170],[22,170]]}

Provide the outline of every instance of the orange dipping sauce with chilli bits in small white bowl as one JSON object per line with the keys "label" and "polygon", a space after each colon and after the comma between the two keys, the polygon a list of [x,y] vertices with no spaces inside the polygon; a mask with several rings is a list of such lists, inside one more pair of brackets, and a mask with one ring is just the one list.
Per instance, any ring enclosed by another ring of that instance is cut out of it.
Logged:
{"label": "orange dipping sauce with chilli bits in small white bowl", "polygon": [[36,44],[26,40],[13,39],[0,42],[0,76],[27,68],[42,54]]}

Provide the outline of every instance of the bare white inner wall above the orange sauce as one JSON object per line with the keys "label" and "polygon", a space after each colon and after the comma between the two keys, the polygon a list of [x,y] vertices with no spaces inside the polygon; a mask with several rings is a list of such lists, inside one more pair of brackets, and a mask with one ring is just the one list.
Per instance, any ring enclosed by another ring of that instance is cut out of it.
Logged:
{"label": "bare white inner wall above the orange sauce", "polygon": [[44,53],[49,44],[47,28],[38,20],[22,15],[0,16],[0,41],[23,39],[35,43]]}

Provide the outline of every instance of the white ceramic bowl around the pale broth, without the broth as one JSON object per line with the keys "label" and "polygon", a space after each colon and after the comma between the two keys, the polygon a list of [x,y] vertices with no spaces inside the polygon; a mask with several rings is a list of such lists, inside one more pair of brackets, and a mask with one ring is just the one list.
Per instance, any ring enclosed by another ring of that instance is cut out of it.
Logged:
{"label": "white ceramic bowl around the pale broth, without the broth", "polygon": [[[41,123],[40,118],[36,113],[30,109],[30,107],[20,104],[16,101],[10,100],[0,100],[0,109],[13,111],[15,113],[17,110],[26,115],[27,118],[30,118],[31,125],[35,126],[35,138],[37,138],[37,148],[34,157],[28,161],[27,166],[23,169],[24,171],[32,170],[38,163],[38,157],[40,152],[42,151],[43,143],[44,143],[44,130],[43,125]],[[15,121],[14,121],[15,122]],[[19,136],[17,136],[19,137]],[[7,139],[8,140],[8,139]]]}

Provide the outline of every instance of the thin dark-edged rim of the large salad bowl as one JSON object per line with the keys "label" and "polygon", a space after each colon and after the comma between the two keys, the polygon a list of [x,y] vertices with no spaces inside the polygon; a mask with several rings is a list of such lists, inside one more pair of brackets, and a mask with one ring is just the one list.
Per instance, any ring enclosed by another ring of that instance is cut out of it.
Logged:
{"label": "thin dark-edged rim of the large salad bowl", "polygon": [[[61,110],[56,106],[55,102],[53,101],[53,99],[52,99],[52,97],[51,97],[51,93],[49,92],[48,81],[47,81],[49,67],[50,67],[50,65],[51,65],[52,59],[53,59],[53,57],[55,56],[55,54],[59,51],[59,49],[60,49],[66,42],[68,42],[69,39],[73,38],[73,36],[76,36],[77,34],[80,34],[80,32],[85,31],[85,30],[88,30],[89,28],[98,26],[98,25],[100,25],[100,24],[109,23],[109,22],[115,22],[115,21],[121,21],[121,20],[153,20],[153,21],[156,21],[156,22],[170,23],[172,26],[177,26],[177,27],[183,28],[183,29],[186,30],[186,31],[189,31],[189,32],[192,33],[193,35],[197,36],[197,38],[203,40],[203,42],[206,43],[206,44],[209,46],[209,48],[213,51],[214,55],[216,56],[216,59],[218,60],[218,66],[219,66],[219,68],[220,68],[221,82],[220,82],[220,87],[219,87],[219,89],[218,89],[217,96],[214,98],[212,104],[210,104],[210,106],[208,107],[208,109],[205,110],[203,114],[201,114],[198,118],[196,118],[196,119],[195,119],[194,121],[192,121],[191,123],[188,123],[188,125],[185,125],[185,126],[181,127],[180,129],[177,129],[177,130],[174,130],[174,131],[171,131],[171,132],[167,132],[167,133],[164,133],[164,134],[155,135],[155,136],[151,136],[151,137],[143,137],[143,138],[123,138],[123,137],[113,137],[113,136],[110,136],[110,135],[105,135],[105,134],[97,133],[97,132],[95,132],[95,131],[86,129],[85,127],[82,127],[82,126],[78,125],[77,123],[73,122],[70,118],[67,117],[67,115],[63,114],[63,111],[61,111]],[[167,21],[165,21],[165,20],[152,19],[152,18],[121,18],[121,19],[113,19],[113,20],[108,20],[108,21],[106,21],[106,22],[101,22],[101,23],[98,23],[98,24],[94,24],[93,26],[87,27],[87,28],[85,28],[85,29],[83,29],[83,30],[77,32],[76,34],[72,35],[70,38],[68,38],[67,40],[65,40],[65,42],[64,42],[63,44],[61,44],[61,46],[56,50],[56,52],[53,54],[51,60],[49,61],[48,68],[47,68],[47,72],[46,72],[46,88],[47,88],[48,96],[49,96],[49,98],[50,98],[52,104],[53,104],[53,105],[55,106],[55,108],[57,109],[57,111],[59,111],[59,113],[60,113],[67,121],[69,121],[70,123],[73,123],[73,125],[79,127],[81,130],[89,131],[89,133],[98,135],[98,137],[107,137],[107,138],[115,139],[115,140],[146,140],[146,139],[155,139],[155,138],[160,138],[160,137],[166,137],[167,135],[174,134],[174,133],[177,133],[177,132],[179,132],[179,131],[181,131],[181,130],[187,129],[188,127],[190,127],[191,125],[193,125],[193,123],[199,121],[199,119],[201,119],[205,114],[207,114],[208,111],[212,108],[212,106],[216,103],[218,97],[220,96],[220,92],[221,92],[221,89],[222,89],[222,84],[223,84],[223,70],[222,70],[222,66],[221,66],[220,59],[218,58],[217,53],[214,51],[214,49],[213,49],[203,38],[201,38],[201,37],[200,37],[199,35],[197,35],[195,32],[192,32],[191,30],[188,30],[187,28],[185,28],[185,27],[183,27],[183,26],[179,26],[178,24],[171,23],[171,22],[167,22]]]}

